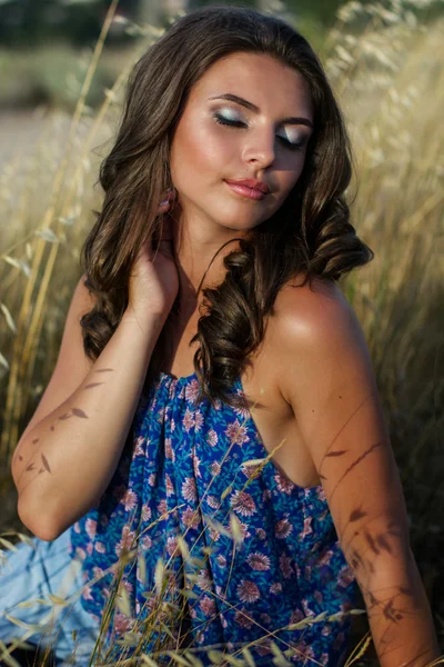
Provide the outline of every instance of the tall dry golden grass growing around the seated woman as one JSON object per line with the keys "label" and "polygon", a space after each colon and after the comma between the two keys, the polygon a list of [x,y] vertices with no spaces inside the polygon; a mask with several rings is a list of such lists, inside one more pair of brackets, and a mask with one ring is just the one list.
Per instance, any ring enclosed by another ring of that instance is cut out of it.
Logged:
{"label": "tall dry golden grass growing around the seated woman", "polygon": [[[356,151],[357,179],[350,188],[351,197],[357,188],[352,217],[359,235],[375,251],[373,262],[347,277],[343,289],[372,355],[410,510],[412,548],[443,637],[443,21],[424,28],[401,0],[392,4],[387,11],[377,4],[364,8],[350,2],[326,40],[325,67]],[[0,481],[12,499],[10,458],[57,360],[67,308],[80,275],[79,248],[92,223],[91,209],[100,208],[101,193],[93,188],[98,165],[120,112],[122,83],[138,57],[128,53],[115,84],[92,112],[85,99],[114,6],[72,118],[52,111],[33,155],[13,156],[0,173],[0,457],[4,464]],[[143,33],[137,47],[140,52],[159,31],[139,30]],[[17,515],[8,525],[22,529]],[[236,527],[231,527],[235,542]],[[21,534],[21,539],[27,536]],[[184,560],[192,558],[184,545],[181,550]],[[134,549],[124,552],[123,565],[134,555]],[[159,605],[144,628],[145,639],[160,615],[168,618],[171,611],[170,603],[162,600],[167,580],[168,564],[163,564],[154,583]],[[124,614],[128,601],[122,595],[117,575],[112,604]],[[49,603],[57,609],[70,600]],[[107,619],[104,614],[103,633]],[[309,623],[322,620],[326,619]],[[140,640],[135,625],[125,641],[134,649]],[[370,637],[363,637],[347,665],[359,664],[369,644]],[[291,664],[289,651],[281,653],[274,645],[273,653],[275,665]],[[157,657],[144,656],[143,661],[155,665]],[[218,664],[218,649],[212,657]],[[103,664],[114,664],[102,658]],[[17,667],[6,653],[3,659]],[[119,661],[130,663],[130,658]],[[175,664],[199,665],[199,660],[189,655]],[[244,650],[231,664],[252,665],[251,654]]]}

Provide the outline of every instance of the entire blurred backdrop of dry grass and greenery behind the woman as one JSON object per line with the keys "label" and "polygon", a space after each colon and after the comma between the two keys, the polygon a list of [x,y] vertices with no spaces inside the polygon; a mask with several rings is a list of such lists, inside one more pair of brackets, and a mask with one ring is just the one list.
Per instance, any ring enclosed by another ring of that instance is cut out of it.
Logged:
{"label": "entire blurred backdrop of dry grass and greenery behind the woman", "polygon": [[[0,0],[0,536],[12,542],[29,531],[10,459],[57,361],[128,73],[171,22],[209,3]],[[443,643],[444,2],[239,4],[309,39],[347,122],[352,223],[375,258],[342,287],[372,355]]]}

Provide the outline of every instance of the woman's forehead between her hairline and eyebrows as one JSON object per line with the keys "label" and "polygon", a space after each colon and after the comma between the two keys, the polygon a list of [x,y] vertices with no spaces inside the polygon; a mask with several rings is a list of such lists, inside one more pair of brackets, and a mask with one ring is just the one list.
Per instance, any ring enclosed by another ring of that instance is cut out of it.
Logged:
{"label": "woman's forehead between her hairline and eyebrows", "polygon": [[293,111],[312,115],[310,88],[304,77],[266,53],[230,53],[214,62],[193,86],[189,102],[232,92],[255,103],[261,112]]}

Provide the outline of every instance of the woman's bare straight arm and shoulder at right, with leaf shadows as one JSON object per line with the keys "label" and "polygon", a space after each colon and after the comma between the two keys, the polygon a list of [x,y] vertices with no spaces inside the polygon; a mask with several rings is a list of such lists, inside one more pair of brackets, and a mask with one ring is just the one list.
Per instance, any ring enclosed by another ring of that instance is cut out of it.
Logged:
{"label": "woman's bare straight arm and shoulder at right, with leaf shadows", "polygon": [[440,656],[370,354],[334,283],[285,288],[278,331],[284,399],[320,474],[365,600],[382,667]]}

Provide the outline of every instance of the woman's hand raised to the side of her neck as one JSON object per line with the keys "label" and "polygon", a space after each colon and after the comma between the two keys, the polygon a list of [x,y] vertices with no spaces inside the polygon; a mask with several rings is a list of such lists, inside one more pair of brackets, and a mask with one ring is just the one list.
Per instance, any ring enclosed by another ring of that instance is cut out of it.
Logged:
{"label": "woman's hand raised to the side of her neck", "polygon": [[[165,192],[158,215],[169,210],[175,190]],[[138,317],[154,315],[167,318],[179,291],[170,216],[164,216],[159,233],[147,241],[131,267],[128,310]]]}

